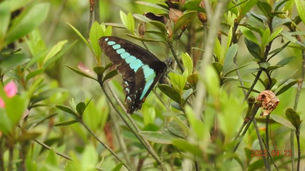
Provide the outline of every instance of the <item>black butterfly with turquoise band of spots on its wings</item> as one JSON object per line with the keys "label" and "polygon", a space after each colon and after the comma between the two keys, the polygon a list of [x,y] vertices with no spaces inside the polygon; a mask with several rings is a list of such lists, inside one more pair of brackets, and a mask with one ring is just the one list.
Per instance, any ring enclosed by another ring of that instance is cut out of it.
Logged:
{"label": "black butterfly with turquoise band of spots on its wings", "polygon": [[149,92],[163,78],[167,65],[142,47],[117,37],[101,37],[99,45],[123,77],[127,113],[140,110]]}

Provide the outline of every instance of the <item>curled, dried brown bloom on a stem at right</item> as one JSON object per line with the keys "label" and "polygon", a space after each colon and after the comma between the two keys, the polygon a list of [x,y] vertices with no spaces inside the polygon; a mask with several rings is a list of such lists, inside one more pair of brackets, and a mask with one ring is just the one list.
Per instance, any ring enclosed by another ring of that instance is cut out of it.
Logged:
{"label": "curled, dried brown bloom on a stem at right", "polygon": [[260,114],[261,117],[269,115],[274,109],[277,108],[280,102],[276,94],[270,90],[262,91],[256,99],[262,102],[262,113]]}

